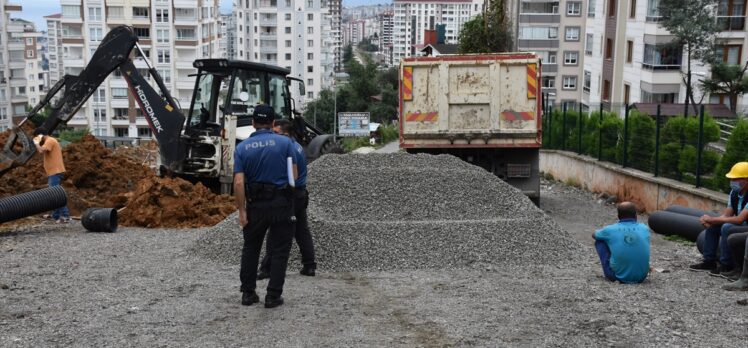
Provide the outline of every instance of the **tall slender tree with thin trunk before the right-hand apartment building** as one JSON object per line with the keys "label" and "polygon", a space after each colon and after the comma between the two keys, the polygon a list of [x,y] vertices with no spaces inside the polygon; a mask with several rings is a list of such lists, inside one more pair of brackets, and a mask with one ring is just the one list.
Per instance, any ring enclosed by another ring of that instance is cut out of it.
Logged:
{"label": "tall slender tree with thin trunk before the right-hand apartment building", "polygon": [[660,0],[658,11],[662,16],[660,25],[667,29],[675,39],[672,44],[682,47],[686,54],[687,68],[683,77],[686,84],[685,116],[688,116],[689,102],[694,104],[693,86],[691,85],[691,61],[704,63],[714,61],[715,37],[719,32],[715,9],[719,0]]}

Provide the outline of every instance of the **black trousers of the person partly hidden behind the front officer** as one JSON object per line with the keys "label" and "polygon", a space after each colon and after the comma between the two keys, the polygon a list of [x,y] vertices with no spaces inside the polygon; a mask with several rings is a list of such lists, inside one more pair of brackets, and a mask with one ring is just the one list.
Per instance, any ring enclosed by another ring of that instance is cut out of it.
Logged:
{"label": "black trousers of the person partly hidden behind the front officer", "polygon": [[[306,214],[307,206],[309,206],[309,192],[306,189],[296,189],[294,195],[294,215],[296,216],[294,238],[301,253],[301,264],[304,268],[316,269],[317,262],[314,257],[314,240],[312,239],[311,231],[309,231],[309,221]],[[265,257],[262,258],[262,264],[260,264],[260,271],[270,272],[270,266],[275,262],[275,259],[272,257],[273,251],[270,248],[266,248]]]}

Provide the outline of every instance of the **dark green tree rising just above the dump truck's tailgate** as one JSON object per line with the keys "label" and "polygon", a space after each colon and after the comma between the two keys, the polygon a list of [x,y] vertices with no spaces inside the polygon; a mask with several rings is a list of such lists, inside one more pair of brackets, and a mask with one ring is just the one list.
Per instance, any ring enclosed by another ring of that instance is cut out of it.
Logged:
{"label": "dark green tree rising just above the dump truck's tailgate", "polygon": [[491,53],[511,51],[512,24],[506,14],[504,0],[491,1],[490,7],[460,30],[460,53]]}

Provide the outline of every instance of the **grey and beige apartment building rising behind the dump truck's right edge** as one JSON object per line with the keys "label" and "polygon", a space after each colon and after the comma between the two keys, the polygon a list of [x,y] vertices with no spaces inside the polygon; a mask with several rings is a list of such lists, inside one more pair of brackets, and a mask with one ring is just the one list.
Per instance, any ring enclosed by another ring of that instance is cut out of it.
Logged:
{"label": "grey and beige apartment building rising behind the dump truck's right edge", "polygon": [[513,16],[516,49],[536,52],[543,61],[543,93],[569,107],[578,107],[582,95],[584,5],[581,0],[518,0],[510,11],[518,12]]}

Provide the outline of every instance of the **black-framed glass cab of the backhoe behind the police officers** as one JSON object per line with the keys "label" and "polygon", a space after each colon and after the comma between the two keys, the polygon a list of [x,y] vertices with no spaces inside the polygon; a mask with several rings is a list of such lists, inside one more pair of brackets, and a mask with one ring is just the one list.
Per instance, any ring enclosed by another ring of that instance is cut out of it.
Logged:
{"label": "black-framed glass cab of the backhoe behind the police officers", "polygon": [[275,109],[276,118],[291,118],[288,69],[226,59],[201,59],[194,66],[198,73],[186,135],[220,136],[227,127],[226,116],[232,115],[236,141],[242,141],[254,132],[252,113],[260,104]]}

